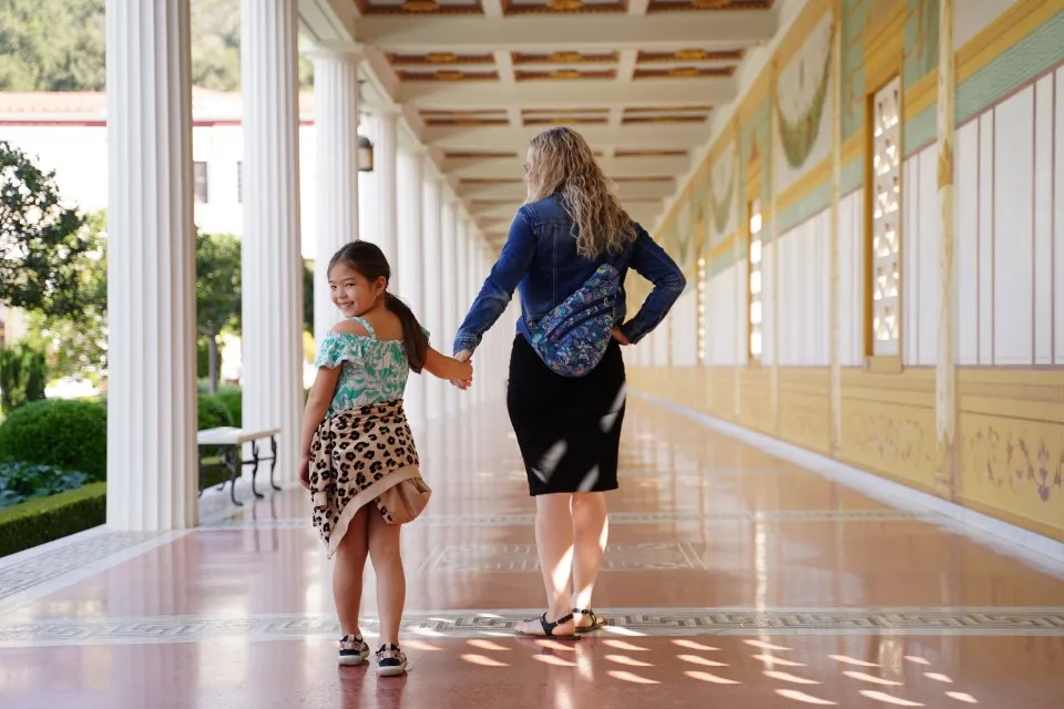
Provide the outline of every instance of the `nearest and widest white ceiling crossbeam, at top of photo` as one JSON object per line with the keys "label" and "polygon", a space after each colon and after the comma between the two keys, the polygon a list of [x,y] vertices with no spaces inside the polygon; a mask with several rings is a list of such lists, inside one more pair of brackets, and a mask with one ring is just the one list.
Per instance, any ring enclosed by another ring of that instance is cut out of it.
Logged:
{"label": "nearest and widest white ceiling crossbeam, at top of photo", "polygon": [[[355,27],[355,39],[391,51],[514,52],[596,51],[618,49],[678,50],[723,44],[729,48],[768,42],[776,33],[771,10],[727,12],[653,12],[519,14],[512,18],[436,16],[368,17]],[[592,39],[598,38],[598,39]]]}

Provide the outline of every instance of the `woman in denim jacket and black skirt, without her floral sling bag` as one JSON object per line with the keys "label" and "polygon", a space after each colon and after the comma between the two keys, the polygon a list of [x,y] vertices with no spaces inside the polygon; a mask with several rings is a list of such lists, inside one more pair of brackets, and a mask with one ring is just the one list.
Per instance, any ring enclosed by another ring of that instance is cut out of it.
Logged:
{"label": "woman in denim jacket and black skirt, without her floral sling bag", "polygon": [[[535,542],[548,609],[516,631],[574,638],[605,624],[591,602],[606,546],[605,493],[617,489],[625,407],[620,346],[638,342],[654,329],[686,281],[673,259],[621,208],[579,133],[567,127],[540,133],[524,167],[528,198],[456,336],[454,352],[459,360],[472,357],[520,287],[523,317],[510,360],[507,407],[529,493],[535,497]],[[653,281],[654,290],[625,322],[621,289],[613,314],[617,327],[601,361],[586,376],[560,376],[533,349],[530,326],[603,265],[613,266],[622,284],[634,268]]]}

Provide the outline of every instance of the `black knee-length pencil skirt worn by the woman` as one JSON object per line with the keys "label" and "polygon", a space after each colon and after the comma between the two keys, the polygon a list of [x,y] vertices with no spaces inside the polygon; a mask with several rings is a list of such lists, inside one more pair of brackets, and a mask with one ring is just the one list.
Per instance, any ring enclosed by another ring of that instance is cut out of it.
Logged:
{"label": "black knee-length pencil skirt worn by the woman", "polygon": [[513,341],[507,391],[510,422],[529,476],[529,494],[617,489],[625,376],[611,342],[586,377],[555,374],[522,335]]}

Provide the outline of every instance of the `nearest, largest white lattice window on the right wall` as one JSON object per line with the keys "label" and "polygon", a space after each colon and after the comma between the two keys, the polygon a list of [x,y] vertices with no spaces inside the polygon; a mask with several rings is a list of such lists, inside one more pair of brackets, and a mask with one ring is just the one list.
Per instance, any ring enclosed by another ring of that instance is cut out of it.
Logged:
{"label": "nearest, largest white lattice window on the right wall", "polygon": [[867,354],[901,353],[901,79],[876,92],[869,109],[871,131],[870,246],[867,273],[870,299]]}

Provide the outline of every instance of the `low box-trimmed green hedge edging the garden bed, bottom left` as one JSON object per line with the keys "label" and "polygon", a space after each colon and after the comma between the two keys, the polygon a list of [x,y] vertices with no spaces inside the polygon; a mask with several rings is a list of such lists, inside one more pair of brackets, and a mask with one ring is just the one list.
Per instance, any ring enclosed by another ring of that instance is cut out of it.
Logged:
{"label": "low box-trimmed green hedge edging the garden bed, bottom left", "polygon": [[106,483],[0,510],[0,556],[100,526],[106,518]]}

